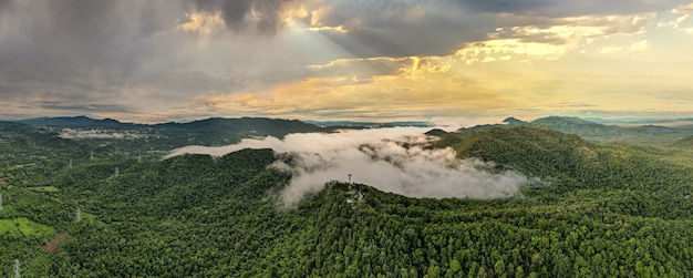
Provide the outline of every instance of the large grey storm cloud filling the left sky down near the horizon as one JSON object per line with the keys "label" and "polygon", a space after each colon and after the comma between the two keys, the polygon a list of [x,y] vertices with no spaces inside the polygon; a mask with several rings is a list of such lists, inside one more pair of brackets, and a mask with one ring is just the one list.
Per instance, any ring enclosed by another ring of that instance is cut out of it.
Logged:
{"label": "large grey storm cloud filling the left sky down near the horizon", "polygon": [[[298,17],[292,13],[300,9],[297,6],[307,1],[276,2],[283,10],[275,16],[290,21]],[[256,16],[257,9],[273,7],[262,1],[251,6]],[[228,17],[223,19],[220,10],[200,13],[186,0],[4,0],[0,4],[0,105],[6,109],[0,114],[99,116],[99,111],[80,109],[99,106],[123,107],[101,112],[121,119],[168,113],[185,106],[192,95],[262,90],[306,76],[304,64],[287,51],[300,49],[296,41],[258,35],[260,30],[228,31]],[[260,27],[270,21],[244,22],[271,32],[269,25]],[[63,105],[41,105],[46,97]],[[19,110],[20,102],[37,105]]]}

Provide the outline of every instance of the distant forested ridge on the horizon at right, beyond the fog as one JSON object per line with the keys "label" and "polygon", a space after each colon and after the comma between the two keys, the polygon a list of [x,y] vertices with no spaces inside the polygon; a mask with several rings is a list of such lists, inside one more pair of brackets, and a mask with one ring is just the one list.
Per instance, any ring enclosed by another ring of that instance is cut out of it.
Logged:
{"label": "distant forested ridge on the horizon at right, beyond the fog", "polygon": [[548,116],[525,122],[515,117],[504,120],[503,124],[477,125],[465,131],[484,131],[493,127],[529,126],[549,128],[562,133],[577,134],[593,142],[621,142],[647,145],[671,145],[673,142],[693,134],[693,125],[681,126],[618,126],[589,122],[579,117]]}

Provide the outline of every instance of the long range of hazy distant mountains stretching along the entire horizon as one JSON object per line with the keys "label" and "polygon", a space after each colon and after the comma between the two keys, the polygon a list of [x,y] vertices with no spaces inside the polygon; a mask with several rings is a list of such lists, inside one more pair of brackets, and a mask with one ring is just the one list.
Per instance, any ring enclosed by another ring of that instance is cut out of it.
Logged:
{"label": "long range of hazy distant mountains stretching along the entire horizon", "polygon": [[[74,117],[37,117],[14,122],[4,122],[0,127],[9,127],[17,123],[48,128],[49,131],[63,133],[65,130],[100,132],[100,136],[91,134],[91,138],[101,140],[107,137],[104,134],[130,132],[132,136],[114,136],[114,138],[146,138],[151,143],[161,144],[157,146],[179,147],[184,145],[225,145],[239,142],[246,137],[276,136],[283,137],[291,133],[310,132],[334,132],[338,128],[376,128],[392,126],[433,126],[427,122],[349,122],[349,121],[298,121],[266,117],[240,117],[223,119],[211,117],[194,121],[189,123],[161,123],[161,124],[136,124],[122,123],[113,119],[96,120],[87,116]],[[508,117],[500,124],[477,125],[465,127],[459,132],[485,131],[494,127],[529,126],[554,130],[562,133],[577,134],[580,137],[594,142],[625,142],[635,144],[656,144],[684,146],[687,141],[684,138],[693,135],[692,125],[660,126],[618,126],[579,117],[548,116],[530,122],[515,117]],[[13,126],[13,128],[19,128]],[[90,138],[75,133],[75,138]],[[430,135],[443,136],[444,133],[434,132]],[[679,142],[681,141],[681,142]]]}

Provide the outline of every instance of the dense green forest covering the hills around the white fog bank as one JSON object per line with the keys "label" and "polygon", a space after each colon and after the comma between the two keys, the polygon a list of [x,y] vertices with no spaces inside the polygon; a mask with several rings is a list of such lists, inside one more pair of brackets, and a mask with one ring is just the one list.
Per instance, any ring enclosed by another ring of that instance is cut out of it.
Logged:
{"label": "dense green forest covering the hills around the white fog bank", "polygon": [[[503,199],[434,199],[324,181],[287,208],[291,174],[270,165],[289,158],[272,150],[143,158],[133,142],[115,152],[2,122],[0,276],[15,259],[23,277],[693,276],[691,134],[588,141],[518,124],[436,135],[427,147],[534,182]],[[351,191],[365,202],[349,204]]]}

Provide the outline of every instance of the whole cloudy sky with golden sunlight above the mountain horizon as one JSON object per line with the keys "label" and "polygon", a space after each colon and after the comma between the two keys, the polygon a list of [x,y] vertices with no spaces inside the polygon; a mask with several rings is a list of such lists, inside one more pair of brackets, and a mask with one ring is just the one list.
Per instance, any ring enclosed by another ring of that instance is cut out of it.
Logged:
{"label": "whole cloudy sky with golden sunlight above the mountain horizon", "polygon": [[0,0],[0,119],[693,114],[693,2]]}

